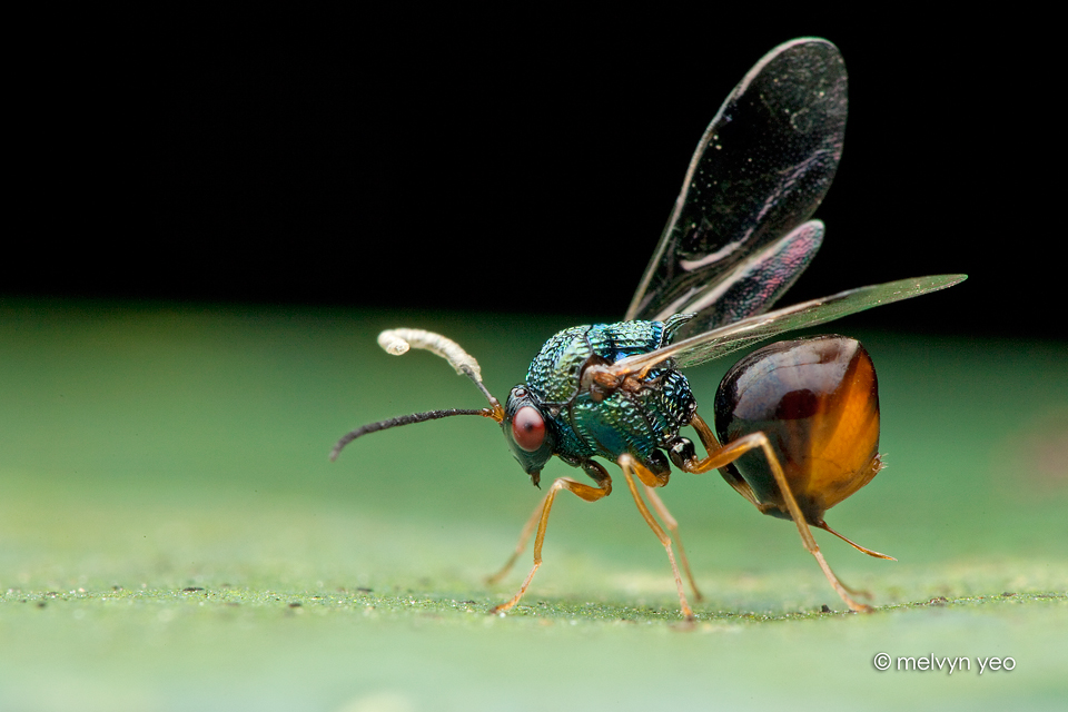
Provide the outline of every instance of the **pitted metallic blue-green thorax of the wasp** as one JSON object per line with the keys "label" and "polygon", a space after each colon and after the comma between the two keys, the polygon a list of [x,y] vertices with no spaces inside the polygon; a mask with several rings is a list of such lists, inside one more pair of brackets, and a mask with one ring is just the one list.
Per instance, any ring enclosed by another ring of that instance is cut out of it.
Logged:
{"label": "pitted metallic blue-green thorax of the wasp", "polygon": [[572,465],[595,455],[615,462],[623,453],[653,464],[651,457],[696,411],[686,378],[668,362],[650,370],[637,392],[617,389],[597,403],[589,392],[580,392],[580,376],[591,358],[611,364],[666,346],[691,316],[576,326],[545,342],[527,370],[526,387],[541,402],[555,436],[554,454]]}

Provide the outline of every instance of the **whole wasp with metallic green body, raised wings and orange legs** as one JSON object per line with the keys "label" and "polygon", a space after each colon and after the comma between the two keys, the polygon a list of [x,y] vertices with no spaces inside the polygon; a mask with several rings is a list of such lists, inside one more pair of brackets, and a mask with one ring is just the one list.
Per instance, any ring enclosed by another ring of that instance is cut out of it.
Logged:
{"label": "whole wasp with metallic green body, raised wings and orange legs", "polygon": [[[694,595],[675,518],[656,490],[671,465],[689,473],[719,469],[739,494],[771,516],[794,522],[842,601],[870,606],[831,571],[810,527],[833,531],[823,514],[868,484],[882,466],[874,366],[843,336],[775,343],[744,357],[716,390],[713,428],[698,415],[681,369],[784,332],[815,326],[873,306],[943,289],[965,275],[902,279],[850,289],[765,312],[815,256],[823,224],[809,218],[830,187],[842,152],[847,73],[832,43],[795,39],[763,57],[734,88],[701,138],[682,191],[623,322],[564,329],[534,357],[525,383],[504,406],[482,382],[478,363],[456,343],[421,329],[383,332],[392,354],[409,347],[446,358],[490,402],[479,409],[415,413],[345,435],[330,458],[367,433],[453,415],[482,415],[501,424],[512,454],[535,485],[552,456],[578,467],[593,484],[558,477],[523,527],[510,571],[535,531],[534,565],[512,609],[542,564],[542,543],[556,495],[596,502],[612,478],[595,461],[614,462],[642,517],[668,552],[682,614],[693,620],[672,546]],[[690,426],[699,456],[681,428]],[[639,486],[639,483],[643,487]],[[643,497],[649,498],[664,526]]]}

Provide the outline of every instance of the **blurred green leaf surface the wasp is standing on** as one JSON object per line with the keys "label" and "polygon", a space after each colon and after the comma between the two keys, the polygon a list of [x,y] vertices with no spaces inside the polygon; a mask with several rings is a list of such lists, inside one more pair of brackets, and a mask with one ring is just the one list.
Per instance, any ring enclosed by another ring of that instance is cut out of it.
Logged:
{"label": "blurred green leaf surface the wasp is standing on", "polygon": [[[0,709],[1052,710],[1068,699],[1059,343],[852,334],[879,369],[888,467],[828,522],[898,561],[817,537],[847,583],[873,592],[873,614],[843,610],[790,523],[718,475],[679,473],[663,497],[704,593],[693,626],[620,486],[595,504],[557,500],[526,597],[490,615],[530,551],[501,584],[485,577],[541,494],[496,426],[449,418],[369,435],[333,464],[327,454],[367,422],[483,405],[434,356],[384,354],[379,329],[447,334],[501,397],[573,325],[0,303]],[[848,320],[834,328],[850,333]],[[688,372],[703,412],[729,366]],[[556,476],[582,475],[551,463],[543,482]],[[916,669],[931,656],[940,670]]]}

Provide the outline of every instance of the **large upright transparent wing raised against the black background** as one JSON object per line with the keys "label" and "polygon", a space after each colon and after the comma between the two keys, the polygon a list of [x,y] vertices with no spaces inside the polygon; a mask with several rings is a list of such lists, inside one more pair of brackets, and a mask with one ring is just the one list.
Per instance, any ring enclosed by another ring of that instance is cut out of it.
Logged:
{"label": "large upright transparent wing raised against the black background", "polygon": [[[740,265],[808,220],[838,168],[847,108],[846,66],[827,40],[793,40],[761,59],[701,138],[625,318],[694,312],[739,278]],[[770,304],[751,301],[744,316]],[[713,315],[696,324],[723,323]]]}

